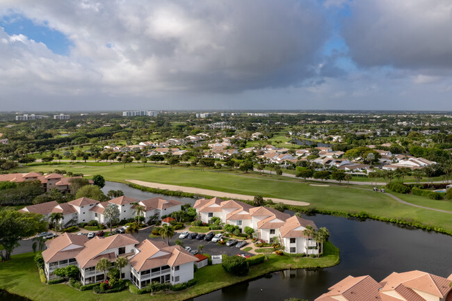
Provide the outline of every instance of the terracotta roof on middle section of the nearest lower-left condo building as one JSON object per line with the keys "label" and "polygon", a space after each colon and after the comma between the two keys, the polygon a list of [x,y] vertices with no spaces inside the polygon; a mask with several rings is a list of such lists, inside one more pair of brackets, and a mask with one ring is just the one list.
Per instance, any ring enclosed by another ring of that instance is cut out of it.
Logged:
{"label": "terracotta roof on middle section of the nearest lower-left condo building", "polygon": [[95,238],[85,243],[85,248],[76,256],[76,260],[81,268],[89,268],[90,266],[95,266],[95,263],[100,259],[99,254],[102,252],[108,249],[136,244],[138,244],[138,241],[130,234],[116,234],[106,238],[95,236]]}

